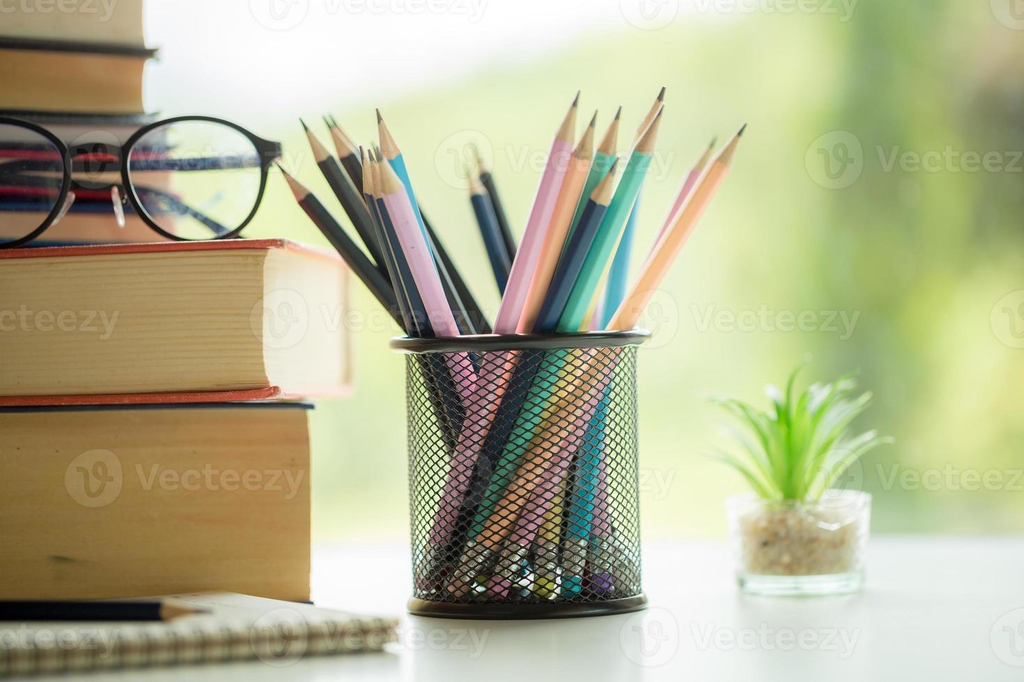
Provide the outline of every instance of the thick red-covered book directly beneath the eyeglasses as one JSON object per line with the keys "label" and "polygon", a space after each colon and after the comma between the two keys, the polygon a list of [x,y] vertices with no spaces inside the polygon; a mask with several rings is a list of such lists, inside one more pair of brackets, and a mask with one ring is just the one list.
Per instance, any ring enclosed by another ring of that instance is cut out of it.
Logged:
{"label": "thick red-covered book directly beneath the eyeglasses", "polygon": [[343,395],[347,272],[287,239],[0,251],[0,406]]}

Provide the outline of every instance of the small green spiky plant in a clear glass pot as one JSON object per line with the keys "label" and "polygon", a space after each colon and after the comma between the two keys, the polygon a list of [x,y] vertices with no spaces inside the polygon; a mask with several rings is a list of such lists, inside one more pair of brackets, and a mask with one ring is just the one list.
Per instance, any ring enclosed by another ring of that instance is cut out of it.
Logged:
{"label": "small green spiky plant in a clear glass pot", "polygon": [[836,490],[840,476],[872,448],[892,440],[850,424],[871,396],[854,397],[852,374],[800,395],[793,372],[785,393],[766,389],[767,412],[714,399],[743,428],[729,428],[738,448],[714,457],[754,489],[726,501],[740,587],[757,594],[841,594],[860,589],[871,497]]}

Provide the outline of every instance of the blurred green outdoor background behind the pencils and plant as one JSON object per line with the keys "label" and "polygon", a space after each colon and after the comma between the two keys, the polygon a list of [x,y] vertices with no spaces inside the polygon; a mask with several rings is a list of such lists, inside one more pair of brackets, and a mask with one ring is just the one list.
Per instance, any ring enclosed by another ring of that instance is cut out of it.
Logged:
{"label": "blurred green outdoor background behind the pencils and plant", "polygon": [[[1024,530],[1024,14],[997,0],[852,10],[822,0],[788,12],[711,0],[657,26],[618,4],[536,58],[374,94],[318,82],[315,102],[263,83],[267,106],[231,118],[283,140],[286,163],[337,208],[296,118],[331,112],[365,143],[381,106],[425,213],[492,314],[497,291],[457,164],[467,141],[483,148],[521,233],[574,91],[581,130],[596,108],[602,132],[624,106],[625,147],[667,86],[635,272],[711,136],[748,123],[731,176],[645,320],[656,331],[640,358],[645,537],[724,534],[723,499],[743,484],[703,456],[724,442],[706,397],[764,405],[763,385],[807,356],[807,380],[860,368],[876,399],[856,425],[896,439],[847,482],[876,496],[876,531]],[[335,29],[342,41],[344,22]],[[294,54],[273,58],[302,67]],[[374,64],[371,54],[336,65],[369,78]],[[324,243],[276,177],[247,235]],[[352,302],[376,310],[361,288]],[[804,329],[785,330],[802,314]],[[353,330],[354,393],[315,411],[317,540],[407,537],[403,360],[387,346],[396,332]]]}

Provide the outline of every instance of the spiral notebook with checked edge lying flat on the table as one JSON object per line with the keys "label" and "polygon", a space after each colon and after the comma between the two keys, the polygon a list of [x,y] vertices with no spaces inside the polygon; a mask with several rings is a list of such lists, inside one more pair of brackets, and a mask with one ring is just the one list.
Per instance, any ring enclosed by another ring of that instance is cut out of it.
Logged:
{"label": "spiral notebook with checked edge lying flat on the table", "polygon": [[207,612],[165,623],[0,622],[0,677],[380,651],[397,621],[245,594],[176,595]]}

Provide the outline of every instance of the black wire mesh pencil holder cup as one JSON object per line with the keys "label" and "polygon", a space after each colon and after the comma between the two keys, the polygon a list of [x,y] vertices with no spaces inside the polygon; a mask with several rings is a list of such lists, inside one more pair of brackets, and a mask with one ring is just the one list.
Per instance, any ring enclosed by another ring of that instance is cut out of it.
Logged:
{"label": "black wire mesh pencil holder cup", "polygon": [[640,584],[644,331],[395,338],[420,616],[617,613]]}

